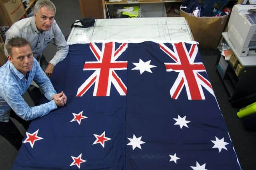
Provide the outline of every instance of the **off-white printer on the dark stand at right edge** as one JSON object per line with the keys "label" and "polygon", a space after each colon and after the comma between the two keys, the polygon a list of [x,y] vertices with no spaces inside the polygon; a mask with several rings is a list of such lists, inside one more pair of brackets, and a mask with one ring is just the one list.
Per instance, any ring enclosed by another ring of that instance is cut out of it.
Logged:
{"label": "off-white printer on the dark stand at right edge", "polygon": [[228,22],[228,39],[239,57],[256,57],[256,5],[234,5]]}

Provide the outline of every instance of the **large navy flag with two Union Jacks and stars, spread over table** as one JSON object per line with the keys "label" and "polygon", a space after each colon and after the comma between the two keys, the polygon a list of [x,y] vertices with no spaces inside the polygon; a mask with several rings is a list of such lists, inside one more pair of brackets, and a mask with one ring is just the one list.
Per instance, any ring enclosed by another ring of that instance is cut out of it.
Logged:
{"label": "large navy flag with two Union Jacks and stars, spread over table", "polygon": [[30,124],[12,170],[240,170],[196,44],[70,45],[67,105]]}

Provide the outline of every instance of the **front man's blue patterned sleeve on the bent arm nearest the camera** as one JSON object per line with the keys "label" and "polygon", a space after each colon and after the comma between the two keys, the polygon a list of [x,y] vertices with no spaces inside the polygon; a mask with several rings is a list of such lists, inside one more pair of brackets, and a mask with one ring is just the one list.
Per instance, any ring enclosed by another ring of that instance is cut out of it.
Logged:
{"label": "front man's blue patterned sleeve on the bent arm nearest the camera", "polygon": [[42,117],[58,108],[54,100],[39,106],[30,107],[19,94],[18,89],[17,85],[9,86],[8,89],[2,92],[2,97],[14,112],[24,120],[32,120],[37,117]]}

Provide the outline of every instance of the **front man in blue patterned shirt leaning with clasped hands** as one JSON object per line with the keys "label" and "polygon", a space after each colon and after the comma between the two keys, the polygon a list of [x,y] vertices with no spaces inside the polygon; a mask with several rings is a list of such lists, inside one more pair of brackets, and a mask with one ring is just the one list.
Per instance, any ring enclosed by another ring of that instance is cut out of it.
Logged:
{"label": "front man in blue patterned shirt leaning with clasped hands", "polygon": [[[20,117],[20,123],[25,124],[27,129],[27,121],[64,106],[67,98],[64,92],[56,93],[50,79],[33,57],[30,43],[26,39],[12,38],[8,41],[6,49],[9,54],[8,61],[0,67],[0,135],[19,150],[23,136],[10,119],[10,113],[16,113]],[[49,102],[30,107],[24,101],[22,95],[32,80],[39,85]]]}

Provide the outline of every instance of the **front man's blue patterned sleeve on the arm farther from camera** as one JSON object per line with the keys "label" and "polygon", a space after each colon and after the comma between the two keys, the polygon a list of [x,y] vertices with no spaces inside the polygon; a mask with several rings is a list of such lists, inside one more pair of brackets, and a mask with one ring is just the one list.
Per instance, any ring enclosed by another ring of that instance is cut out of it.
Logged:
{"label": "front man's blue patterned sleeve on the arm farther from camera", "polygon": [[48,100],[52,100],[52,95],[56,94],[52,82],[46,76],[42,68],[40,67],[38,61],[34,58],[34,67],[36,68],[34,81],[38,84],[39,88],[42,90],[42,93]]}

